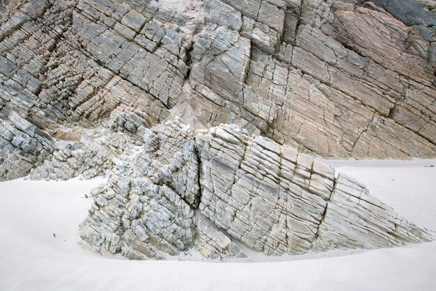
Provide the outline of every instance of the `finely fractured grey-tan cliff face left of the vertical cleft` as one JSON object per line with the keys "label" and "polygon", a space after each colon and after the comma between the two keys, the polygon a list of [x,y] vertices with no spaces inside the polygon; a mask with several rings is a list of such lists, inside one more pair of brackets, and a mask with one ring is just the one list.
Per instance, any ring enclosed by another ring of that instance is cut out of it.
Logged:
{"label": "finely fractured grey-tan cliff face left of the vertical cleft", "polygon": [[30,95],[23,111],[40,123],[91,125],[125,105],[155,124],[185,82],[190,42],[177,24],[186,21],[155,2],[29,1],[2,24],[0,74]]}

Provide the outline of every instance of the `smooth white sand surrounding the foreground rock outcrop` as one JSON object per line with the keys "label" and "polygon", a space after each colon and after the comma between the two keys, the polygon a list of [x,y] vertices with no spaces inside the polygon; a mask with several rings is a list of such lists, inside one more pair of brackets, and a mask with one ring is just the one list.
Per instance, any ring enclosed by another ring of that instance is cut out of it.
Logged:
{"label": "smooth white sand surrounding the foreground rock outcrop", "polygon": [[[436,230],[436,167],[425,167],[436,166],[435,159],[328,163],[417,225]],[[257,262],[245,263],[102,257],[77,244],[77,225],[91,204],[81,197],[100,182],[0,183],[0,290],[436,290],[436,242],[254,255]]]}

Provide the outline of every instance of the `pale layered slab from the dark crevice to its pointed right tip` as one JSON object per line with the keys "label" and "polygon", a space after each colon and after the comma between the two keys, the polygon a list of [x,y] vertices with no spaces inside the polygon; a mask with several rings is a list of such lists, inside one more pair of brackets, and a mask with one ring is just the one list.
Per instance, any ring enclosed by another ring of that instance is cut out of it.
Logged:
{"label": "pale layered slab from the dark crevice to its pointed right tip", "polygon": [[235,125],[196,136],[204,217],[267,255],[309,249],[422,242],[429,233],[399,217],[358,182],[309,155]]}

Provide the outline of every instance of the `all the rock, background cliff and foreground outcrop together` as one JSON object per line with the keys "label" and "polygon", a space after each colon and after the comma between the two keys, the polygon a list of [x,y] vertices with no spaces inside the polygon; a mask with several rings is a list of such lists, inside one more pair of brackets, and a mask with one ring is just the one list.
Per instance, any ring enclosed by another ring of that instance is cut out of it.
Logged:
{"label": "all the rock, background cliff and foreground outcrop together", "polygon": [[313,157],[436,156],[435,7],[1,1],[0,180],[107,175],[81,242],[133,259],[427,241]]}

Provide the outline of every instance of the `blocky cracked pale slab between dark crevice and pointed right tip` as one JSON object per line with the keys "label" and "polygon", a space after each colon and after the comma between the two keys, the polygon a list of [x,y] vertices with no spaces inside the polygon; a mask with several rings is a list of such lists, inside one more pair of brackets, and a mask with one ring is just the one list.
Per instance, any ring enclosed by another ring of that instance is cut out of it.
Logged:
{"label": "blocky cracked pale slab between dark crevice and pointed right tip", "polygon": [[332,168],[316,165],[321,171],[312,183],[312,157],[252,139],[236,126],[212,128],[197,136],[197,144],[201,214],[267,255],[311,248],[333,189]]}

